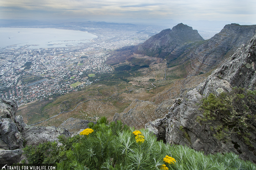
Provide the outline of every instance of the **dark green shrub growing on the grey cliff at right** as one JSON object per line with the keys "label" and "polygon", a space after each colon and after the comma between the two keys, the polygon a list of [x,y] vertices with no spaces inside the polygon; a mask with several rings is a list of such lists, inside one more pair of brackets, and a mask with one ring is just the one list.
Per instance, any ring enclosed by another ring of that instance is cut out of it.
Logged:
{"label": "dark green shrub growing on the grey cliff at right", "polygon": [[[215,136],[227,140],[238,135],[244,143],[251,146],[256,131],[256,90],[235,87],[231,92],[222,92],[218,96],[209,94],[200,105],[201,123],[211,124]],[[218,122],[215,126],[213,123]]]}

